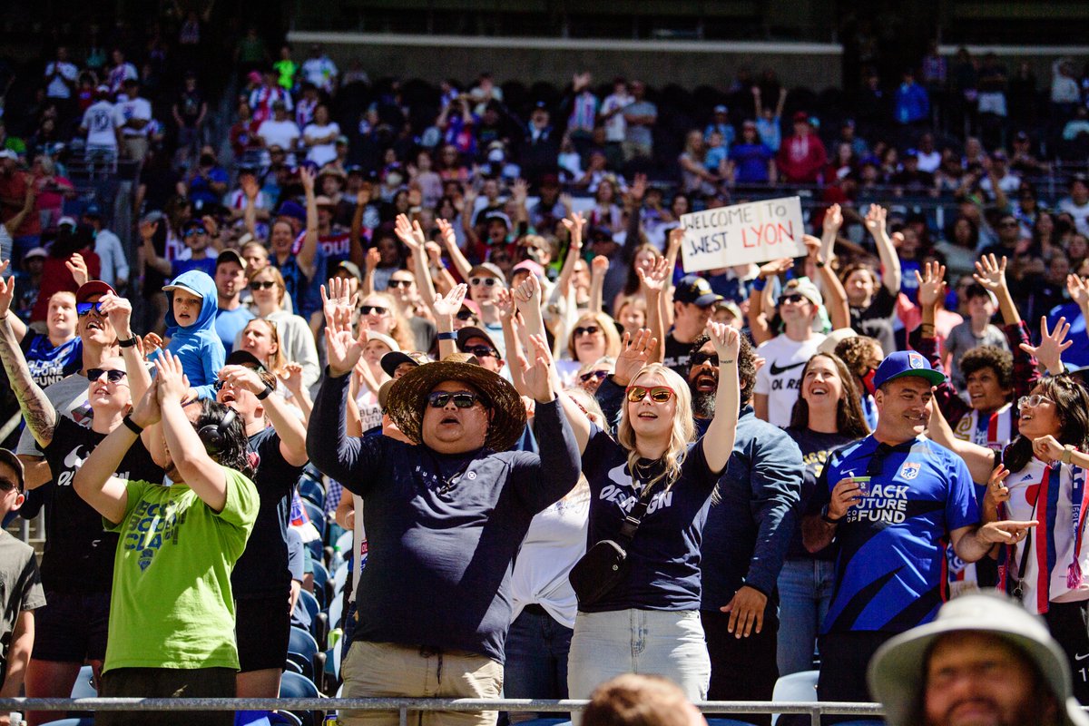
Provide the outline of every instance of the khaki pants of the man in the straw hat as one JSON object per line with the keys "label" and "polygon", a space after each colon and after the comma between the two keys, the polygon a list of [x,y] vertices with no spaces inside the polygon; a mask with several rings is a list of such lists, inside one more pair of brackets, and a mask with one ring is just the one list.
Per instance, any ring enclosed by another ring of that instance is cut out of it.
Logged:
{"label": "khaki pants of the man in the straw hat", "polygon": [[[375,643],[352,643],[344,666],[344,698],[473,698],[498,699],[503,666],[486,655],[465,651]],[[409,726],[490,726],[494,711],[409,711]],[[344,726],[395,726],[395,711],[340,714]]]}

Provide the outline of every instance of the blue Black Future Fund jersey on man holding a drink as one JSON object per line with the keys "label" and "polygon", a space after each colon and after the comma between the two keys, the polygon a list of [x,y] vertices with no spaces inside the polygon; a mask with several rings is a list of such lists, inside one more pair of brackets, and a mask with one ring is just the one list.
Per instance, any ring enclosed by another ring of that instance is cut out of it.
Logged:
{"label": "blue Black Future Fund jersey on man holding a drink", "polygon": [[867,476],[870,459],[883,456],[869,495],[836,527],[835,590],[821,633],[903,632],[932,620],[945,580],[942,540],[979,524],[964,459],[922,438],[878,446],[867,436],[835,452],[809,500],[808,514],[819,513],[836,482]]}

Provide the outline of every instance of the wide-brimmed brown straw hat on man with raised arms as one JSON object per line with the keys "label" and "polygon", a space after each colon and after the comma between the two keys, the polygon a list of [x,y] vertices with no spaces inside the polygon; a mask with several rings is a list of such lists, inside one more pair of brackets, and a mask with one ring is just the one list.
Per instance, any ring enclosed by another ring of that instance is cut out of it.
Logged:
{"label": "wide-brimmed brown straw hat on man with raised arms", "polygon": [[526,407],[507,381],[480,366],[440,360],[408,371],[390,389],[387,411],[409,440],[423,443],[424,410],[427,397],[443,381],[460,381],[476,389],[481,402],[491,409],[491,424],[484,445],[497,452],[513,447],[526,428]]}

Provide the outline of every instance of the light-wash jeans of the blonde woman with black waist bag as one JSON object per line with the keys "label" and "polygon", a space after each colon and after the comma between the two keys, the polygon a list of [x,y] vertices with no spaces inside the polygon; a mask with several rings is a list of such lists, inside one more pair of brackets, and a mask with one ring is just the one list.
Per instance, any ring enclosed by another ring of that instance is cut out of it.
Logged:
{"label": "light-wash jeans of the blonde woman with black waist bag", "polygon": [[[707,700],[711,659],[699,611],[579,613],[567,663],[570,697],[587,699],[595,688],[625,673],[665,676],[688,700]],[[572,714],[575,726],[577,716]]]}

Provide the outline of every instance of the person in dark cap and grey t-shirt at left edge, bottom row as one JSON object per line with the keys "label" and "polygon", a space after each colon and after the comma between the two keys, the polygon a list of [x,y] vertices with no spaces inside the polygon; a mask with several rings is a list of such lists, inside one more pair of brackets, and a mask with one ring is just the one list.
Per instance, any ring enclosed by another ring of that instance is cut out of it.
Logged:
{"label": "person in dark cap and grey t-shirt at left edge, bottom row", "polygon": [[[0,520],[23,506],[23,463],[0,448]],[[0,699],[22,694],[34,649],[34,611],[46,604],[34,547],[0,529]]]}

